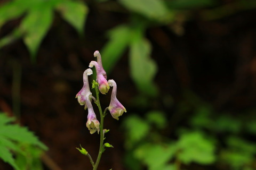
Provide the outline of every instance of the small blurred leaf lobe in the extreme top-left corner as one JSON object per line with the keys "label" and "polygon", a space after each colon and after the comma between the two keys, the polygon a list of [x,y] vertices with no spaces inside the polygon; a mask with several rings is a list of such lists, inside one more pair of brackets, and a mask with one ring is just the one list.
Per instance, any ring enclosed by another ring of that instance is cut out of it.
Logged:
{"label": "small blurred leaf lobe in the extreme top-left corner", "polygon": [[27,4],[22,1],[9,1],[0,7],[0,28],[11,19],[18,18],[27,10]]}

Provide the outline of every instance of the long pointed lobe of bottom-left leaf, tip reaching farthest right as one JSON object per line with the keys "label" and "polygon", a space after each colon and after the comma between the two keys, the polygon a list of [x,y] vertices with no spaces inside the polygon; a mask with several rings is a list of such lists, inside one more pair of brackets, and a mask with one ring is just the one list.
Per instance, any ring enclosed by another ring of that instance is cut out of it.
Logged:
{"label": "long pointed lobe of bottom-left leaf, tip reaching farthest right", "polygon": [[17,124],[3,126],[0,129],[0,136],[14,141],[36,145],[44,150],[47,149],[47,147],[40,142],[32,132],[28,131],[26,127],[21,127]]}

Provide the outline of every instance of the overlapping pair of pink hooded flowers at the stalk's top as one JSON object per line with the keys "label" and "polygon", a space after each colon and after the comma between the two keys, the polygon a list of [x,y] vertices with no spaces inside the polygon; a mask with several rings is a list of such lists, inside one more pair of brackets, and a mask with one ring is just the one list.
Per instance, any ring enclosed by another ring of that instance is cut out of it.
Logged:
{"label": "overlapping pair of pink hooded flowers at the stalk's top", "polygon": [[97,79],[96,81],[99,83],[99,90],[100,92],[105,95],[109,90],[109,84],[107,81],[107,74],[105,70],[103,69],[102,63],[101,63],[101,55],[99,51],[94,52],[94,57],[97,57],[97,62],[91,61],[89,67],[95,66],[96,72],[97,72]]}

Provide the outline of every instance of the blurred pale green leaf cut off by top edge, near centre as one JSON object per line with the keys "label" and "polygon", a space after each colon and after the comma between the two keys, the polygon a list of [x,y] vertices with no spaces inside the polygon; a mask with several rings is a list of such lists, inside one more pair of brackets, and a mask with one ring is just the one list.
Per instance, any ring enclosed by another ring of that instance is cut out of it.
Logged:
{"label": "blurred pale green leaf cut off by top edge, near centre", "polygon": [[166,8],[163,1],[159,0],[119,0],[121,4],[133,12],[140,13],[146,17],[158,21],[170,21],[173,13]]}

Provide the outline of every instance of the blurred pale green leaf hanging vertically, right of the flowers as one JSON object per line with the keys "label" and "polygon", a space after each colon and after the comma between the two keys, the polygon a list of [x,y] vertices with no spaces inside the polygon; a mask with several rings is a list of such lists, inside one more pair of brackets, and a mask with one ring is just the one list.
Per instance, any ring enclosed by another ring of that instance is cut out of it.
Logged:
{"label": "blurred pale green leaf hanging vertically, right of the flowers", "polygon": [[143,38],[140,32],[135,34],[130,49],[131,77],[143,94],[156,96],[158,89],[153,79],[157,72],[157,65],[150,58],[150,54],[149,41]]}

